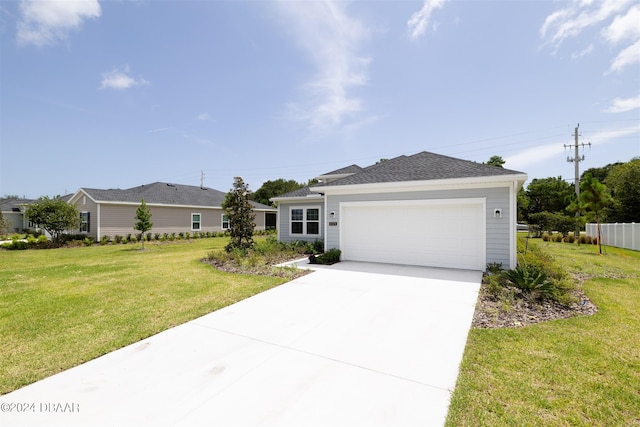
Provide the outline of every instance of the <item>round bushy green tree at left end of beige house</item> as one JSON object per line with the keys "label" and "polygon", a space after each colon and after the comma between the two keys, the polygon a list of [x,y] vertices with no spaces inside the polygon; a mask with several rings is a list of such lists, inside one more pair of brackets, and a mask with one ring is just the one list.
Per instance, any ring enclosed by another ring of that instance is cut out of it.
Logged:
{"label": "round bushy green tree at left end of beige house", "polygon": [[37,202],[27,207],[25,214],[29,221],[51,234],[54,242],[60,240],[64,231],[76,228],[80,224],[78,209],[60,197],[40,197]]}

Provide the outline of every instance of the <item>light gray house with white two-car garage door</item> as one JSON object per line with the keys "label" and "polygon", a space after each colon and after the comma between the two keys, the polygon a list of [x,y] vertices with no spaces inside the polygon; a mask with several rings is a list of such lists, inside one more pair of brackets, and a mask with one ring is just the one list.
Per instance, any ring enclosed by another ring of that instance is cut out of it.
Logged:
{"label": "light gray house with white two-car garage door", "polygon": [[422,152],[317,177],[271,200],[278,239],[324,240],[343,260],[515,268],[523,172]]}

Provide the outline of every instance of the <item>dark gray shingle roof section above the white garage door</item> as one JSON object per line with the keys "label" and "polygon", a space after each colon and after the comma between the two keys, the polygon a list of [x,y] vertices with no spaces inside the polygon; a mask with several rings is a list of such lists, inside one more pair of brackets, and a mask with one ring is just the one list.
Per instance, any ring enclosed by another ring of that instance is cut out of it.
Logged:
{"label": "dark gray shingle roof section above the white garage door", "polygon": [[399,156],[386,160],[351,176],[319,184],[316,187],[519,174],[523,172],[423,151],[412,156]]}

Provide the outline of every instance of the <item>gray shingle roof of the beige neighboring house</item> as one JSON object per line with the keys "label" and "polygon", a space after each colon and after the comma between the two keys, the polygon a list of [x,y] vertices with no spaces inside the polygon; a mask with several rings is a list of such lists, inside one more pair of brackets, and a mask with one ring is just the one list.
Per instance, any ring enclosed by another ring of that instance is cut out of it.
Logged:
{"label": "gray shingle roof of the beige neighboring house", "polygon": [[[183,206],[222,206],[226,196],[226,193],[213,188],[166,182],[154,182],[126,190],[101,190],[97,188],[83,188],[82,190],[98,202],[140,203],[140,200],[144,199],[146,203]],[[273,210],[272,207],[261,203],[253,201],[250,203],[255,209]]]}

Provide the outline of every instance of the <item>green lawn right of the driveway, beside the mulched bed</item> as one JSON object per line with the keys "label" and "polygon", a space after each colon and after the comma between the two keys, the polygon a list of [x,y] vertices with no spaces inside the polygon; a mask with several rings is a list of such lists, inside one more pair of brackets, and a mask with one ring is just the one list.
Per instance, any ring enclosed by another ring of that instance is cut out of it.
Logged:
{"label": "green lawn right of the driveway, beside the mulched bed", "polygon": [[469,333],[447,426],[640,425],[640,252],[531,240],[598,313]]}

